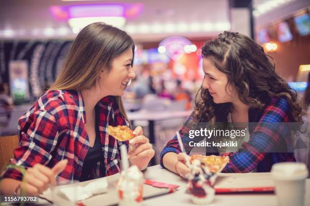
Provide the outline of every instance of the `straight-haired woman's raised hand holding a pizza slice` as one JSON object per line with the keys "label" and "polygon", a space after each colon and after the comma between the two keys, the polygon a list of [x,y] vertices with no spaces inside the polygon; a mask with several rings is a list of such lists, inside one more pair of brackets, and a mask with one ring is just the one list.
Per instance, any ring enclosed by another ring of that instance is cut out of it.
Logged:
{"label": "straight-haired woman's raised hand holding a pizza slice", "polygon": [[132,165],[144,170],[154,157],[155,151],[148,138],[143,135],[142,127],[136,127],[133,135],[135,137],[129,140],[128,157]]}

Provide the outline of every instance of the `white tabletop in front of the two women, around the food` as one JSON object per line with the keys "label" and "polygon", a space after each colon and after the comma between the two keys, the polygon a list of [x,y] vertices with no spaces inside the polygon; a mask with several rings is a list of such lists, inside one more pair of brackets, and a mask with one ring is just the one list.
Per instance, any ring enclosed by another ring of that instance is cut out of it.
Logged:
{"label": "white tabletop in front of the two women, around the food", "polygon": [[[115,181],[118,175],[106,177],[108,182]],[[142,205],[147,206],[158,206],[158,205],[169,205],[169,206],[183,206],[183,205],[195,205],[190,201],[190,195],[185,193],[187,182],[179,177],[178,175],[162,169],[159,165],[149,167],[144,177],[155,181],[176,184],[179,185],[179,189],[173,193],[165,194],[150,199],[143,200]],[[220,173],[218,179],[221,181],[239,182],[242,186],[247,184],[253,185],[253,181],[263,177],[266,183],[273,183],[270,173],[247,173],[247,174],[236,174],[236,173]],[[219,183],[220,184],[220,183]],[[229,182],[226,184],[229,184]],[[269,185],[270,186],[270,185]],[[92,199],[88,200],[92,206],[100,205],[100,202],[92,202]],[[102,199],[102,201],[104,201]],[[40,203],[47,203],[46,200],[40,199]],[[234,206],[234,205],[277,205],[277,196],[275,194],[216,194],[215,200],[210,206]],[[310,179],[306,179],[306,194],[305,194],[305,205],[310,205]]]}

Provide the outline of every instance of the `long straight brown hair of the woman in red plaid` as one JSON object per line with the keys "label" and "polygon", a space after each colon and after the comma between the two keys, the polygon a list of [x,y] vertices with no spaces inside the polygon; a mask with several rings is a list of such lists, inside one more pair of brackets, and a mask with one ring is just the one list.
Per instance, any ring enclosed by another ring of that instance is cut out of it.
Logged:
{"label": "long straight brown hair of the woman in red plaid", "polygon": [[[100,71],[108,73],[113,58],[120,56],[128,48],[132,48],[134,53],[134,42],[125,31],[101,22],[86,26],[73,41],[61,72],[49,90],[91,88]],[[115,100],[121,113],[129,121],[121,96],[115,96]]]}

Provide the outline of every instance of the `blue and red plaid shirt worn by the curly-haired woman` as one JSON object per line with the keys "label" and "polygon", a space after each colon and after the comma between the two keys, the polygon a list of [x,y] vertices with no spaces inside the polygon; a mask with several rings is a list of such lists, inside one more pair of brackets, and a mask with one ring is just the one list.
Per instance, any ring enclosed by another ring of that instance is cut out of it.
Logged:
{"label": "blue and red plaid shirt worn by the curly-haired woman", "polygon": [[[254,169],[257,172],[269,172],[275,163],[295,162],[293,152],[270,152],[279,144],[288,145],[288,147],[291,145],[291,139],[283,138],[290,136],[288,135],[290,130],[283,125],[282,128],[276,128],[277,124],[268,124],[290,122],[290,114],[291,108],[284,98],[273,98],[263,111],[250,109],[249,122],[259,122],[259,124],[251,132],[250,140],[242,144],[241,149],[237,152],[221,153],[220,156],[229,157],[229,163],[222,172],[246,173]],[[190,120],[192,120],[192,116],[180,129],[181,138],[188,138],[184,134],[189,131],[187,123]],[[187,139],[182,141],[186,142]],[[181,152],[176,136],[167,143],[161,152],[160,164],[163,168],[163,157],[167,152]],[[206,155],[219,155],[219,153],[211,153],[207,150]]]}

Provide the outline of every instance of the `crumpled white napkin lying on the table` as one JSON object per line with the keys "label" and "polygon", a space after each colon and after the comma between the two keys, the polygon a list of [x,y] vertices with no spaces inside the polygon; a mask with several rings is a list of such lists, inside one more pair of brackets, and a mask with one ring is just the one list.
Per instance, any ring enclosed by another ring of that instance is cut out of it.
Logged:
{"label": "crumpled white napkin lying on the table", "polygon": [[59,188],[59,192],[63,193],[70,201],[80,201],[87,199],[95,194],[106,192],[108,183],[106,178],[95,180],[86,186],[74,186]]}

